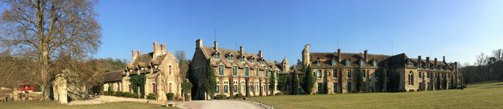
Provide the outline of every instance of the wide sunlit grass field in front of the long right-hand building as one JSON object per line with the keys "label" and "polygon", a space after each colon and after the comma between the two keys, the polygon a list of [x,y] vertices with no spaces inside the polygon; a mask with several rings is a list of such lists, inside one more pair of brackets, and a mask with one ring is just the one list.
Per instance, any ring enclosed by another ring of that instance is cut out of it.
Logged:
{"label": "wide sunlit grass field in front of the long right-hand building", "polygon": [[503,82],[469,84],[464,90],[276,95],[249,99],[276,108],[503,108]]}

